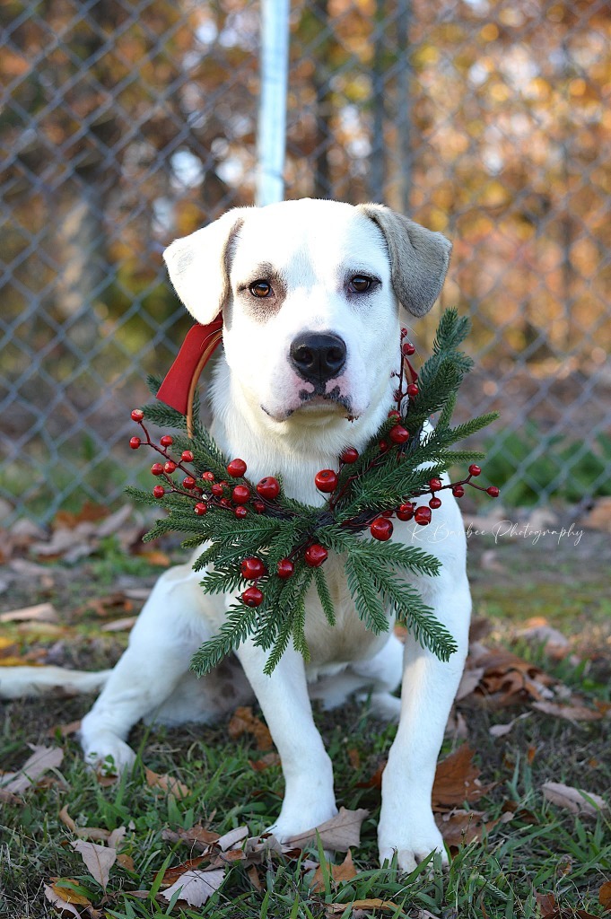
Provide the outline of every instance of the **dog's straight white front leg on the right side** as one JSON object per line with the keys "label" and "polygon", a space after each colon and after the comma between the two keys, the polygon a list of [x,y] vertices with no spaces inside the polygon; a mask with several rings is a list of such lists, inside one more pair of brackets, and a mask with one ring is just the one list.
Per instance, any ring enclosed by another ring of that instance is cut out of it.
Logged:
{"label": "dog's straight white front leg on the right side", "polygon": [[427,591],[458,644],[447,664],[408,635],[403,656],[401,716],[389,761],[382,775],[378,841],[380,864],[397,850],[399,868],[413,871],[433,850],[447,862],[443,839],[431,807],[436,762],[447,717],[456,696],[469,640],[470,591],[466,576],[442,574]]}

